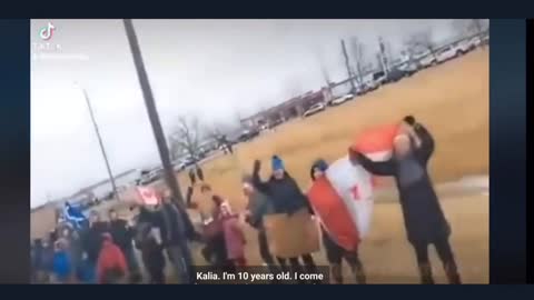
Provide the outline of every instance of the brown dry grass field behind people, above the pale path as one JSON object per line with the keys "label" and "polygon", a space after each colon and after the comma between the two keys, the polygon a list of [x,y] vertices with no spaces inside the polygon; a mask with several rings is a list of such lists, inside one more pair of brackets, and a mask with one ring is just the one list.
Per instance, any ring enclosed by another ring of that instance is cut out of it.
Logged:
{"label": "brown dry grass field behind people, above the pale path", "polygon": [[[241,144],[236,156],[202,166],[207,181],[243,207],[240,178],[255,159],[269,171],[269,158],[279,154],[289,173],[306,188],[309,168],[317,158],[333,161],[344,156],[358,132],[414,114],[433,132],[436,152],[431,173],[438,182],[465,174],[487,173],[490,158],[488,56],[477,50],[413,78],[388,84],[367,96],[304,120],[279,127]],[[179,174],[182,187],[186,176]]]}

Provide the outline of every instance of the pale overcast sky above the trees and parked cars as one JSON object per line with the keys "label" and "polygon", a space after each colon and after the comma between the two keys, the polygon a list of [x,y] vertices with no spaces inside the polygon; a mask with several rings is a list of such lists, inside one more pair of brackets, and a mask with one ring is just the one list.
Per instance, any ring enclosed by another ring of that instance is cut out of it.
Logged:
{"label": "pale overcast sky above the trees and parked cars", "polygon": [[[48,46],[39,29],[56,27]],[[346,77],[342,38],[373,58],[377,37],[399,51],[409,34],[454,34],[451,20],[135,20],[165,130],[176,117],[234,122],[297,90]],[[93,106],[115,173],[159,161],[120,20],[33,20],[31,26],[31,206],[107,178],[81,90]],[[48,49],[42,49],[42,48]],[[59,48],[60,49],[59,49]],[[53,49],[51,49],[53,48]],[[56,59],[42,57],[55,54]]]}

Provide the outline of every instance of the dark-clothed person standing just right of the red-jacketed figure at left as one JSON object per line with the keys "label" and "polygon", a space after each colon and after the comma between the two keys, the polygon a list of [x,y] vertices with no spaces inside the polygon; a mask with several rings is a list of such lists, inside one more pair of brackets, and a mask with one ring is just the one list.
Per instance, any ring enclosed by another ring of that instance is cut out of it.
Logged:
{"label": "dark-clothed person standing just right of the red-jacketed figure at left", "polygon": [[119,219],[117,211],[113,209],[109,210],[109,232],[111,233],[115,243],[125,254],[126,262],[128,263],[130,281],[132,283],[139,282],[141,276],[136,252],[134,251],[134,228],[131,228],[126,220]]}

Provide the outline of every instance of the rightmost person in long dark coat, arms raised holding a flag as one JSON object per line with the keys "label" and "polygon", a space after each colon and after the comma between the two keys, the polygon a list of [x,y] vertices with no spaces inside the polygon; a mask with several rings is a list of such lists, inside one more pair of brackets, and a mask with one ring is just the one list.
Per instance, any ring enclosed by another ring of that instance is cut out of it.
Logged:
{"label": "rightmost person in long dark coat, arms raised holding a flag", "polygon": [[417,258],[422,283],[434,283],[428,260],[428,244],[434,244],[443,262],[449,283],[461,283],[448,238],[451,227],[445,219],[427,172],[434,152],[434,139],[415,118],[404,119],[409,134],[399,134],[394,141],[394,156],[387,161],[372,161],[349,149],[352,159],[377,176],[393,176],[400,197],[404,223]]}

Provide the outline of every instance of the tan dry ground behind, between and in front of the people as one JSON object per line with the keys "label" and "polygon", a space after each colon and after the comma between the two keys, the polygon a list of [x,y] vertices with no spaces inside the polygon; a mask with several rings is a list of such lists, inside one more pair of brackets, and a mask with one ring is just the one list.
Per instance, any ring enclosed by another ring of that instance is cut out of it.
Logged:
{"label": "tan dry ground behind, between and in front of the people", "polygon": [[[269,158],[277,153],[303,189],[309,186],[309,167],[317,158],[333,161],[346,153],[358,132],[366,128],[414,114],[436,139],[431,174],[436,182],[448,182],[468,174],[488,173],[490,152],[490,66],[488,50],[475,50],[356,98],[323,113],[295,120],[274,132],[240,144],[234,156],[225,156],[202,166],[206,181],[228,198],[237,210],[246,206],[240,178],[251,170],[254,159],[264,162],[267,178]],[[186,174],[178,174],[187,187]],[[453,228],[452,244],[463,280],[488,282],[488,197],[481,193],[441,194]],[[38,226],[33,226],[37,222]],[[32,218],[33,228],[46,224]],[[261,264],[256,232],[246,228],[250,264]],[[442,266],[431,251],[437,282],[445,282]],[[204,263],[197,256],[197,261]],[[324,252],[315,253],[326,264]],[[369,283],[417,283],[414,253],[406,241],[397,202],[377,199],[369,237],[362,244],[362,259]]]}

